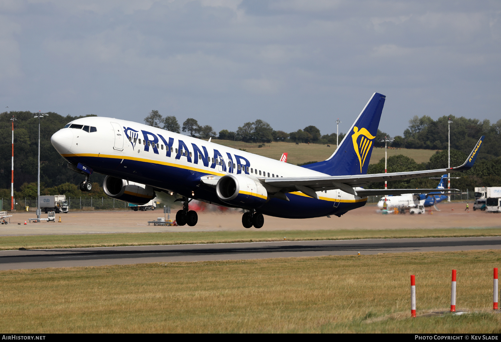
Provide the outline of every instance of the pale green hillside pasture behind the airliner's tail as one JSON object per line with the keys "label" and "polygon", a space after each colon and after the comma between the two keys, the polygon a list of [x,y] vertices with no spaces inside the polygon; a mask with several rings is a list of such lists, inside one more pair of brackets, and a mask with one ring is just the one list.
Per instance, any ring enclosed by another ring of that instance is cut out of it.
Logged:
{"label": "pale green hillside pasture behind the airliner's tail", "polygon": [[[247,152],[256,153],[273,159],[280,159],[283,152],[288,152],[287,162],[299,164],[307,161],[322,161],[331,156],[336,150],[336,145],[321,145],[316,143],[300,143],[296,145],[292,142],[273,142],[266,144],[265,147],[258,147],[258,143],[247,143],[242,141],[219,140],[214,139],[212,142],[229,146],[233,148],[243,148]],[[430,156],[435,153],[432,149],[388,149],[388,157],[396,154],[404,154],[413,158],[417,163],[429,161]],[[384,157],[384,148],[374,148],[370,163],[377,163]]]}

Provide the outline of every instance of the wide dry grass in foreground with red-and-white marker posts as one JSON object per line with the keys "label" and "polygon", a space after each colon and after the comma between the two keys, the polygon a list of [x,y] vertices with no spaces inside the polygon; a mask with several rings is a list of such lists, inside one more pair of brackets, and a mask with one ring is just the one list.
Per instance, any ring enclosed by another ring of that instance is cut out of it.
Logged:
{"label": "wide dry grass in foreground with red-and-white marker posts", "polygon": [[[487,250],[0,271],[0,330],[499,333],[500,265]],[[452,268],[469,313],[426,316],[448,310]]]}

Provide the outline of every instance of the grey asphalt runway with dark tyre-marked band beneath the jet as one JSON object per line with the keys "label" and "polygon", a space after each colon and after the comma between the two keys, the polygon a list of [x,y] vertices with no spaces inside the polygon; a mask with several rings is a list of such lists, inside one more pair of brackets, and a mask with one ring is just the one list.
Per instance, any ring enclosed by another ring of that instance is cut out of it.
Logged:
{"label": "grey asphalt runway with dark tyre-marked band beneath the jet", "polygon": [[501,236],[2,250],[0,269],[471,249],[501,249]]}

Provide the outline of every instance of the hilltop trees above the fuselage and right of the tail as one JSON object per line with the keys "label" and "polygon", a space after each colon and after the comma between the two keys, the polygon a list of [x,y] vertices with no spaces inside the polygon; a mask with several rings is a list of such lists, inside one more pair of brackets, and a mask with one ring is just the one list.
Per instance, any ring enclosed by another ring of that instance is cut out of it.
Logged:
{"label": "hilltop trees above the fuselage and right of the tail", "polygon": [[[409,120],[409,126],[404,130],[403,136],[394,136],[393,141],[388,142],[388,146],[396,148],[446,149],[448,147],[449,120],[452,121],[450,123],[451,148],[469,153],[478,138],[481,135],[485,135],[485,143],[482,146],[479,158],[491,159],[501,156],[501,119],[491,124],[489,120],[480,121],[463,116],[442,116],[433,120],[427,115],[423,115],[422,117],[416,115]],[[182,130],[191,136],[205,139],[212,137],[244,142],[270,143],[272,141],[286,141],[320,144],[336,144],[337,141],[336,133],[322,135],[320,129],[313,125],[287,133],[283,130],[273,129],[268,122],[261,119],[257,119],[254,122],[245,122],[234,131],[222,129],[217,136],[210,125],[202,126],[198,124],[196,119],[187,118],[181,126],[175,116],[162,117],[158,113],[158,110],[152,110],[144,121],[146,124],[155,127],[161,127],[177,133],[180,133]],[[339,141],[344,136],[344,133],[340,133]],[[381,140],[385,137],[391,138],[388,133],[378,129],[376,138],[374,139],[374,146],[383,147],[385,142]]]}

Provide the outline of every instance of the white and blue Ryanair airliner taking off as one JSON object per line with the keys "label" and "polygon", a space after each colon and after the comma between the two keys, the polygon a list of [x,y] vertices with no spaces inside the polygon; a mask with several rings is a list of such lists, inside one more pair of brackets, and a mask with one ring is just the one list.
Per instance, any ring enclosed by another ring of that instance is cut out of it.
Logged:
{"label": "white and blue Ryanair airliner taking off", "polygon": [[469,169],[483,136],[460,166],[415,172],[367,174],[385,96],[374,93],[336,151],[305,166],[111,117],[82,117],[51,137],[68,167],[86,176],[105,174],[112,198],[144,204],[158,191],[175,194],[184,205],[178,225],[195,225],[191,199],[245,209],[242,224],[261,228],[265,215],[309,218],[341,216],[365,205],[368,195],[429,192],[435,189],[364,189],[371,182],[424,177]]}

